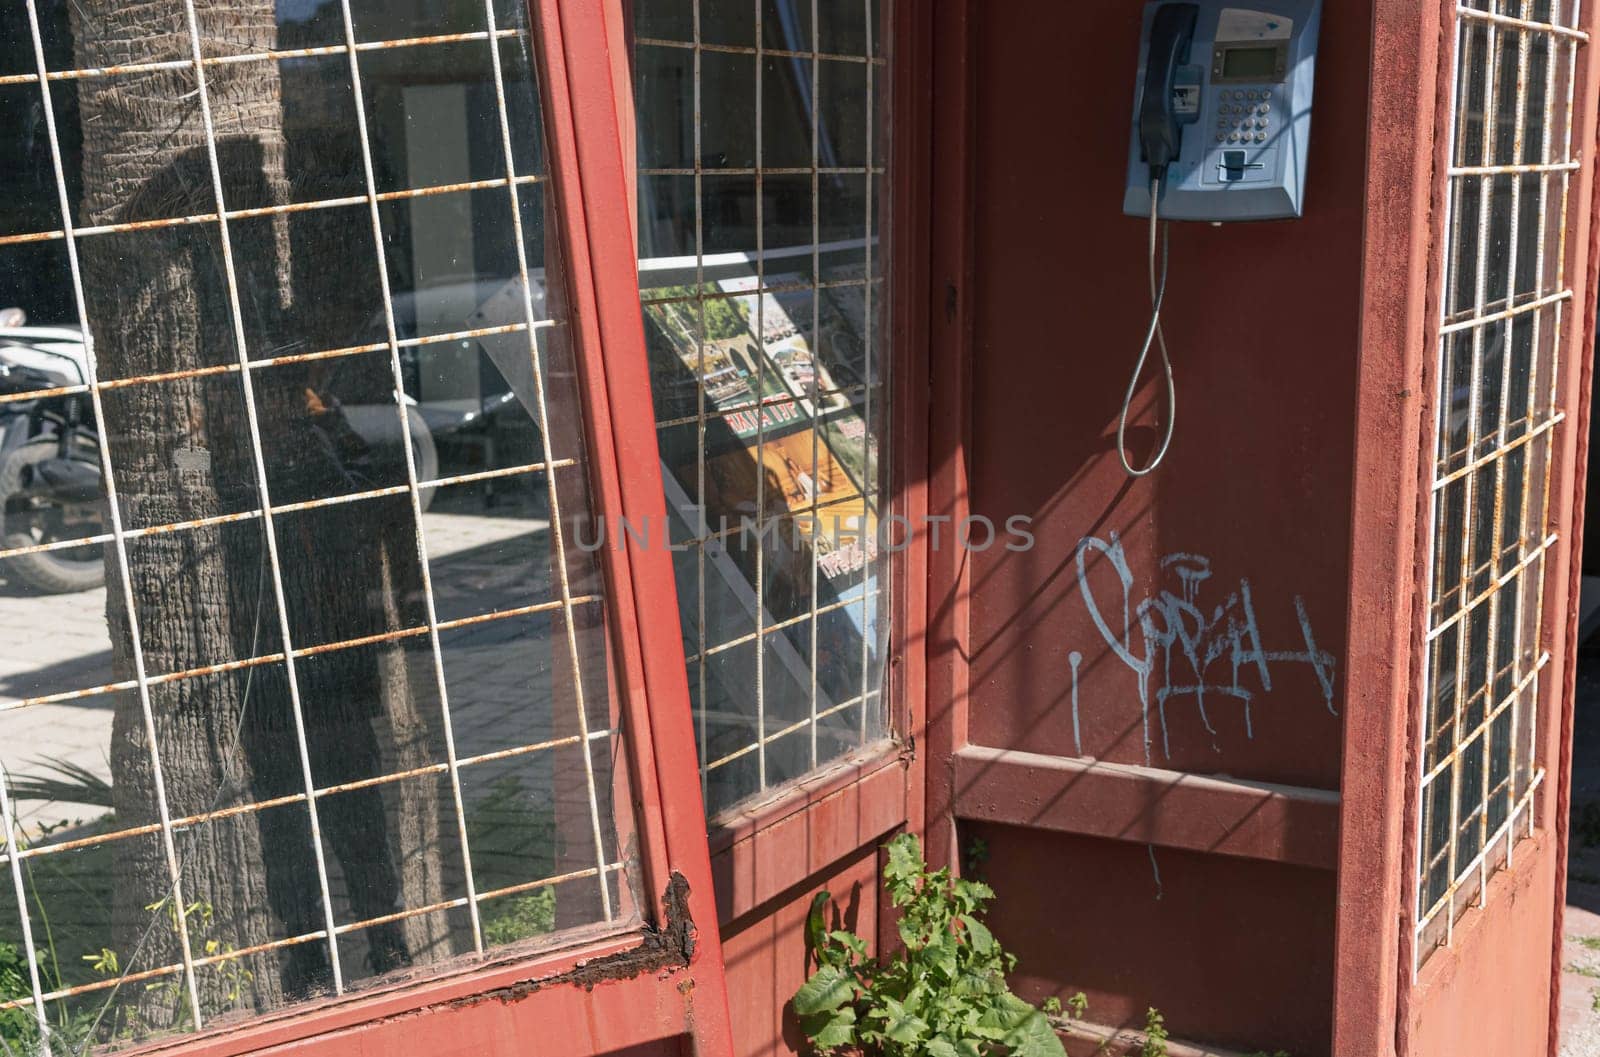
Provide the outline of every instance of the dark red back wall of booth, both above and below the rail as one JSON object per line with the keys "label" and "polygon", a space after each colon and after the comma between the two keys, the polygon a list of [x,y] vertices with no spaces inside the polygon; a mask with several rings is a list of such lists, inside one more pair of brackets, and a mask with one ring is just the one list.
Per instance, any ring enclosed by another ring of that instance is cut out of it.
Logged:
{"label": "dark red back wall of booth, both above and below the rail", "polygon": [[[978,6],[970,499],[997,523],[1034,518],[1037,542],[973,558],[970,740],[1336,790],[1371,5],[1323,14],[1304,219],[1173,229],[1178,433],[1131,483],[1114,445],[1149,315],[1144,221],[1122,214],[1141,8]],[[1136,616],[1125,638],[1123,606],[1146,600],[1152,627],[1182,620],[1210,664],[1182,640],[1168,664]],[[1283,654],[1266,676],[1258,648]],[[1328,1052],[1331,872],[1019,827],[970,836],[989,844],[997,932],[1030,996],[1082,988],[1093,1020],[1155,1004],[1174,1036]]]}

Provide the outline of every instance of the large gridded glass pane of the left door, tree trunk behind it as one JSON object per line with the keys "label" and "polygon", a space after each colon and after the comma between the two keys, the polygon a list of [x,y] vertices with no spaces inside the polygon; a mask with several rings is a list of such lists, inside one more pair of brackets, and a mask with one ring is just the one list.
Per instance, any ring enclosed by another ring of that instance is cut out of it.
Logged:
{"label": "large gridded glass pane of the left door, tree trunk behind it", "polygon": [[[573,547],[574,371],[530,267],[547,184],[523,5],[338,0],[274,24],[269,3],[234,27],[205,0],[166,6],[163,45],[90,64],[146,42],[91,26],[93,5],[80,26],[27,0],[32,69],[0,67],[0,90],[30,94],[0,106],[43,117],[35,214],[56,217],[0,229],[0,277],[26,267],[10,254],[59,251],[78,323],[54,341],[82,339],[75,381],[0,395],[0,430],[54,424],[40,438],[67,461],[69,427],[40,408],[78,401],[104,496],[40,537],[18,536],[8,496],[0,571],[14,587],[22,560],[102,548],[110,600],[90,595],[93,619],[56,640],[82,635],[88,657],[98,632],[115,676],[0,656],[0,942],[29,964],[0,1014],[32,1017],[0,1041],[29,1054],[634,913],[605,601]],[[69,24],[61,69],[46,42]],[[62,101],[90,85],[118,106]],[[82,146],[80,112],[101,123]],[[158,171],[106,185],[106,144],[141,136],[189,149],[147,147]],[[26,341],[0,341],[0,361]],[[66,612],[46,606],[13,592],[0,620]],[[102,707],[72,723],[109,774],[75,764],[88,792],[54,795],[104,814],[30,814],[50,784],[22,771],[66,750],[16,724],[83,705]]]}

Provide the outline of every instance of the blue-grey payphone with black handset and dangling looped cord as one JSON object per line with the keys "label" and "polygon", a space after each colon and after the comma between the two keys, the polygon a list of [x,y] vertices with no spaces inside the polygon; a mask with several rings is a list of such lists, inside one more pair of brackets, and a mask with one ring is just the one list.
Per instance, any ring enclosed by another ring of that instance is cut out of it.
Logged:
{"label": "blue-grey payphone with black handset and dangling looped cord", "polygon": [[[1131,477],[1160,465],[1173,443],[1162,221],[1301,214],[1320,24],[1322,0],[1152,0],[1144,8],[1123,187],[1123,213],[1150,219],[1150,323],[1117,424],[1117,453]],[[1194,134],[1186,138],[1190,125]],[[1150,462],[1134,469],[1125,441],[1128,414],[1155,345],[1166,381],[1166,430]]]}

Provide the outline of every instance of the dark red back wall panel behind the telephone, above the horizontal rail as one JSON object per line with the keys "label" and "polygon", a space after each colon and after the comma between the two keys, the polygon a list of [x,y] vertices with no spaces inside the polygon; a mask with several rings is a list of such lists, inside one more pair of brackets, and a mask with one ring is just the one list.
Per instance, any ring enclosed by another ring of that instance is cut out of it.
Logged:
{"label": "dark red back wall panel behind the telephone, above the horizontal rail", "polygon": [[[1341,3],[1323,19],[1306,217],[1171,229],[1178,433],[1162,469],[1130,483],[1114,440],[1149,318],[1146,222],[1122,214],[1141,6],[984,5],[970,448],[973,512],[1032,515],[1038,537],[1032,552],[974,561],[973,740],[1077,755],[1078,651],[1083,752],[1125,763],[1146,763],[1139,683],[1078,590],[1080,537],[1120,534],[1134,603],[1181,592],[1160,572],[1165,555],[1205,555],[1208,614],[1246,579],[1264,649],[1304,649],[1298,596],[1318,646],[1342,652],[1371,18]],[[1141,421],[1142,462],[1154,429]],[[1102,560],[1091,568],[1120,632],[1117,579]],[[1230,683],[1224,667],[1208,681]],[[1170,683],[1184,676],[1194,681],[1174,664]],[[1211,736],[1186,697],[1168,708],[1170,760],[1152,718],[1149,763],[1334,788],[1339,723],[1310,667],[1272,665],[1270,692],[1242,683],[1258,691],[1253,739],[1237,704],[1208,702]],[[1162,684],[1158,672],[1152,710]]]}

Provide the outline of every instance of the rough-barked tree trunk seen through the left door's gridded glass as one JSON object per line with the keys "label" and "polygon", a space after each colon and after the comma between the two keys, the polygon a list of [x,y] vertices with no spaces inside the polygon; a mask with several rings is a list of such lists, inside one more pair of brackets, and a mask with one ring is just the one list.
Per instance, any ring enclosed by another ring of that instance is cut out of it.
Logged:
{"label": "rough-barked tree trunk seen through the left door's gridded glass", "polygon": [[[272,0],[198,0],[202,51],[277,43]],[[187,59],[178,0],[72,5],[78,66]],[[342,62],[342,56],[341,56]],[[350,136],[286,130],[272,61],[208,66],[206,91],[229,208],[283,205],[347,187]],[[85,78],[80,224],[200,216],[218,208],[192,67]],[[288,173],[294,173],[291,182]],[[349,193],[341,190],[341,193]],[[378,262],[366,206],[230,222],[238,310],[251,358],[381,337]],[[99,377],[237,365],[234,304],[219,225],[184,224],[78,243]],[[395,406],[389,353],[251,373],[274,505],[405,481],[403,453],[378,451],[346,424],[346,405]],[[104,392],[117,501],[130,528],[259,510],[254,446],[238,371]],[[398,408],[397,408],[398,414]],[[365,499],[275,520],[294,648],[426,622],[406,496]],[[114,548],[107,620],[117,678],[133,678],[133,640]],[[128,545],[139,636],[152,676],[282,652],[266,523],[254,517],[160,532]],[[317,787],[438,763],[443,745],[427,638],[320,652],[296,662]],[[283,660],[163,681],[150,689],[171,817],[302,795]],[[112,732],[115,820],[157,822],[155,776],[138,694],[118,697]],[[459,894],[462,868],[437,776],[333,793],[317,803],[338,924]],[[325,927],[304,801],[186,827],[176,838],[195,956]],[[155,838],[115,846],[112,945],[125,971],[181,959]],[[347,979],[461,947],[459,924],[429,915],[341,939]],[[138,951],[136,964],[134,953]],[[202,1009],[266,1011],[331,988],[326,940],[200,967]],[[179,977],[168,977],[179,980]],[[110,1031],[192,1027],[179,987],[120,990]]]}

